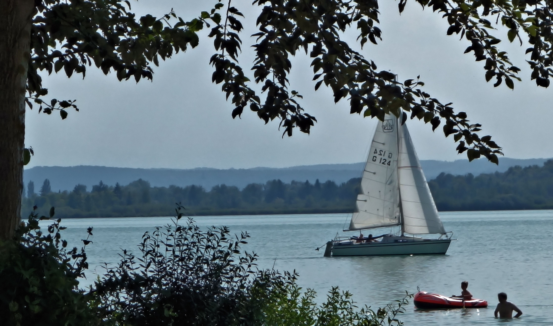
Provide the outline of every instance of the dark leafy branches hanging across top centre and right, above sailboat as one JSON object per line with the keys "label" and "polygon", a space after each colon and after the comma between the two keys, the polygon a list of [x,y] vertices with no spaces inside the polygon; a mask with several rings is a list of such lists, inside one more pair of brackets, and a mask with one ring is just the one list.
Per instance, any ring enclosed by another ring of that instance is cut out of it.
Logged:
{"label": "dark leafy branches hanging across top centre and right, above sailboat", "polygon": [[[507,34],[511,41],[515,36],[521,40],[520,35],[526,34],[529,43],[534,45],[526,50],[527,54],[532,52],[528,61],[533,70],[531,79],[536,80],[538,86],[549,86],[549,77],[553,76],[549,2],[415,1],[447,19],[450,24],[447,35],[461,34],[461,39],[465,38],[470,44],[465,53],[473,51],[476,61],[486,60],[485,77],[487,81],[495,77],[494,87],[505,80],[505,85],[514,88],[513,79],[520,80],[517,76],[520,69],[512,65],[507,52],[497,48],[500,39],[491,32],[503,25],[509,29]],[[253,34],[257,42],[253,45],[256,55],[251,68],[253,78],[244,75],[238,65],[236,56],[241,49],[238,34],[243,26],[238,19],[242,14],[231,7],[230,2],[225,24],[213,27],[210,33],[215,49],[220,51],[211,58],[215,67],[212,79],[221,83],[222,91],[231,98],[235,106],[233,118],[249,107],[265,123],[279,119],[283,136],[292,135],[296,127],[309,133],[316,119],[301,107],[302,96],[294,90],[289,91],[288,80],[292,69],[290,56],[305,51],[312,58],[315,90],[324,84],[332,89],[335,102],[347,98],[350,113],[363,113],[364,117],[381,120],[385,113],[397,117],[401,114],[405,122],[406,112],[410,112],[411,119],[424,119],[431,124],[432,130],[442,125],[444,135],[454,135],[455,142],[459,143],[458,153],[466,151],[469,160],[485,156],[497,164],[501,149],[491,136],[477,134],[481,124],[470,123],[465,112],[453,111],[452,103],[442,104],[422,91],[424,82],[419,76],[400,82],[394,73],[379,71],[374,61],[341,39],[341,35],[353,30],[361,48],[368,41],[377,44],[382,35],[377,27],[378,1],[256,0],[253,4],[263,7],[256,20],[259,32]],[[400,13],[405,4],[406,0],[399,2]],[[534,9],[530,10],[530,6]],[[488,15],[497,15],[495,24],[484,18]],[[264,99],[252,90],[251,80],[261,85]]]}

